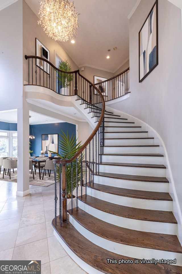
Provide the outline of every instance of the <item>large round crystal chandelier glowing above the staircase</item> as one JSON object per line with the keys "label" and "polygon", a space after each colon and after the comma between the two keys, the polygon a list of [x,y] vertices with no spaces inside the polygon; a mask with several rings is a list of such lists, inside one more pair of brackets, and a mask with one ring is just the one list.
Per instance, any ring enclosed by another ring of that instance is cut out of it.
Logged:
{"label": "large round crystal chandelier glowing above the staircase", "polygon": [[40,20],[44,31],[55,41],[67,41],[77,36],[78,13],[69,0],[44,0],[40,3]]}

